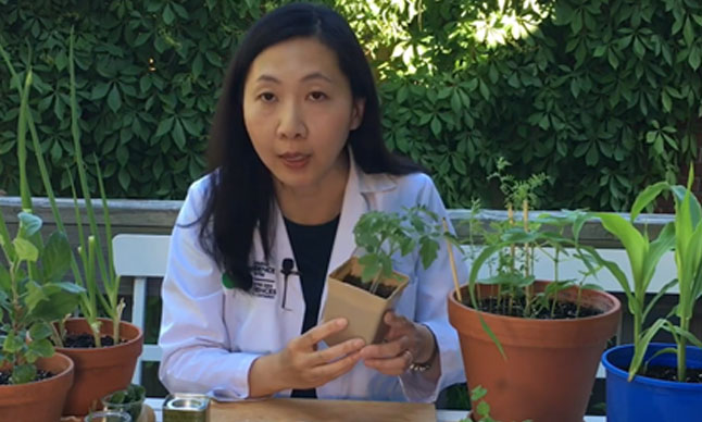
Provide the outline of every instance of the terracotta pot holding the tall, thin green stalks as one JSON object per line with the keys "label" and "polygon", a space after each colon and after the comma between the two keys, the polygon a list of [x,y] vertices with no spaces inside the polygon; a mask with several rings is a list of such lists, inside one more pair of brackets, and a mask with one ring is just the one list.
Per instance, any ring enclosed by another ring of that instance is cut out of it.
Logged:
{"label": "terracotta pot holding the tall, thin green stalks", "polygon": [[[112,335],[112,321],[100,319],[102,334]],[[71,319],[66,331],[72,334],[90,333],[84,319]],[[64,415],[85,415],[91,407],[100,406],[103,396],[129,385],[137,359],[143,346],[143,333],[128,322],[120,323],[121,343],[101,348],[57,348],[75,362],[75,381],[68,392]],[[95,404],[95,405],[93,405]]]}

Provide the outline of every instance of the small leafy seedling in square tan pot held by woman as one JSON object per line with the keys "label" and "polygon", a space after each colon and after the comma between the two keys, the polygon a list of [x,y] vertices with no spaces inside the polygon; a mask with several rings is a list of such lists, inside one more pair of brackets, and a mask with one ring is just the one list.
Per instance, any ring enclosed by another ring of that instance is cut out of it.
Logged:
{"label": "small leafy seedling in square tan pot held by woman", "polygon": [[323,320],[343,316],[347,327],[325,339],[336,345],[360,337],[366,344],[378,343],[387,333],[383,322],[393,308],[409,277],[392,269],[392,258],[415,251],[427,268],[439,249],[443,235],[438,216],[424,207],[408,208],[402,213],[369,211],[353,228],[358,256],[334,270],[327,278],[327,300]]}

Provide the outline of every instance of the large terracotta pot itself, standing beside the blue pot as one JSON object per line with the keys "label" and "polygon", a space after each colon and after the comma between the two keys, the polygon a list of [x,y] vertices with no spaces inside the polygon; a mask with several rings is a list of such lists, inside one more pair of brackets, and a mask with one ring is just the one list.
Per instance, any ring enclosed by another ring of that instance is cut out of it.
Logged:
{"label": "large terracotta pot itself, standing beside the blue pot", "polygon": [[[537,291],[548,282],[537,282]],[[479,286],[481,297],[494,286]],[[469,297],[467,286],[463,298]],[[575,301],[575,287],[562,291],[561,300]],[[490,415],[502,422],[582,422],[609,338],[620,316],[616,297],[582,290],[584,306],[599,309],[596,316],[572,320],[530,320],[479,312],[449,295],[449,321],[459,332],[468,387],[487,389],[484,400]],[[506,359],[481,326],[480,318],[498,337]],[[477,404],[473,404],[474,408]]]}

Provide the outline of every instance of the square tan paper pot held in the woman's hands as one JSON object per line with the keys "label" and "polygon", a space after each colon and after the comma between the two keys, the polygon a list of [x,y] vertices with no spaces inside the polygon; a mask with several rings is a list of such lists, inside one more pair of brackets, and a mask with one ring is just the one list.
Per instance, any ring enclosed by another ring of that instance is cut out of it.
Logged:
{"label": "square tan paper pot held in the woman's hands", "polygon": [[324,306],[322,320],[330,321],[339,316],[349,320],[346,330],[325,338],[328,346],[359,337],[363,338],[366,345],[380,342],[388,330],[383,322],[383,315],[394,307],[400,293],[410,281],[406,275],[398,272],[394,274],[400,281],[384,280],[384,284],[397,286],[390,297],[384,299],[343,282],[344,276],[351,274],[360,277],[362,272],[362,265],[353,257],[334,270],[327,277],[327,301]]}

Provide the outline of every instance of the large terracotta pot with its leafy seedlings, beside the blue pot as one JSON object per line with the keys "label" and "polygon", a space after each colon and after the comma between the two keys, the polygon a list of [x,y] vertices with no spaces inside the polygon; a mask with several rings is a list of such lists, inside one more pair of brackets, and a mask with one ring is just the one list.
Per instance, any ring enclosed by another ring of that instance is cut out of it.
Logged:
{"label": "large terracotta pot with its leafy seedlings, beside the blue pot", "polygon": [[[598,270],[594,249],[578,243],[589,215],[530,221],[534,189],[544,177],[498,176],[509,221],[484,233],[486,245],[473,253],[468,284],[449,296],[449,321],[459,332],[467,383],[490,392],[494,419],[581,422],[599,357],[619,321],[619,302],[587,283]],[[514,203],[522,206],[519,224]],[[551,260],[553,281],[536,280],[537,251]],[[564,257],[585,265],[581,280],[559,278]],[[490,275],[478,280],[486,266]],[[473,400],[473,408],[478,405]]]}

